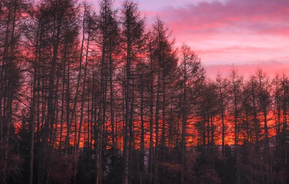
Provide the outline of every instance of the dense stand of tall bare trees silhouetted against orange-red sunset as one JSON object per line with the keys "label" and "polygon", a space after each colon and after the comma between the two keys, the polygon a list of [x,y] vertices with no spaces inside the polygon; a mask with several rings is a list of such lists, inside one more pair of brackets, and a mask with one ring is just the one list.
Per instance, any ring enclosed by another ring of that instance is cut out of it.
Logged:
{"label": "dense stand of tall bare trees silhouetted against orange-red sunset", "polygon": [[0,184],[287,184],[289,77],[207,77],[136,2],[0,0]]}

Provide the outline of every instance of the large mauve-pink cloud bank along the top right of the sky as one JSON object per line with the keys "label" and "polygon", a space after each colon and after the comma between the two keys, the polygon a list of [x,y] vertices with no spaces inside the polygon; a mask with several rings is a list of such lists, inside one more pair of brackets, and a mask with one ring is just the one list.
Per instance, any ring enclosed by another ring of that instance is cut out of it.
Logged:
{"label": "large mauve-pink cloud bank along the top right of the sky", "polygon": [[[272,25],[288,27],[289,1],[287,0],[229,0],[226,3],[201,1],[184,7],[166,6],[156,11],[173,27],[193,31],[258,32]],[[285,24],[284,24],[285,23]],[[238,27],[237,30],[233,28]]]}

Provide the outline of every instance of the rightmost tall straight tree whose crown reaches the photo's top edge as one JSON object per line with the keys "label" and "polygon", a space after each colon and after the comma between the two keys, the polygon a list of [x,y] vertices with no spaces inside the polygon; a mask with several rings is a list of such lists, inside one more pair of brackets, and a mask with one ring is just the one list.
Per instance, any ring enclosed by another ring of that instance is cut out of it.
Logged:
{"label": "rightmost tall straight tree whose crown reaches the photo's top edge", "polygon": [[[133,1],[124,1],[121,9],[121,21],[122,21],[122,36],[124,42],[124,51],[126,52],[126,121],[125,121],[125,136],[124,136],[124,178],[123,183],[128,184],[128,133],[129,122],[131,122],[131,115],[129,111],[129,103],[131,103],[131,79],[133,75],[133,61],[138,56],[140,49],[142,48],[143,36],[144,36],[144,18],[141,18],[138,10],[138,4]],[[130,126],[131,127],[131,126]]]}

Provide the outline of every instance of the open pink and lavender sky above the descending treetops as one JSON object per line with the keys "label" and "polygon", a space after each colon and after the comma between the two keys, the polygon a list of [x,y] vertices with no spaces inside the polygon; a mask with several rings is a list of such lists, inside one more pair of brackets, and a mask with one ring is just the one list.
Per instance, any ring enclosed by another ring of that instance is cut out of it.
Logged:
{"label": "open pink and lavender sky above the descending treetops", "polygon": [[136,1],[148,25],[159,15],[176,46],[191,46],[209,77],[232,65],[245,76],[258,67],[270,76],[289,73],[289,0]]}

